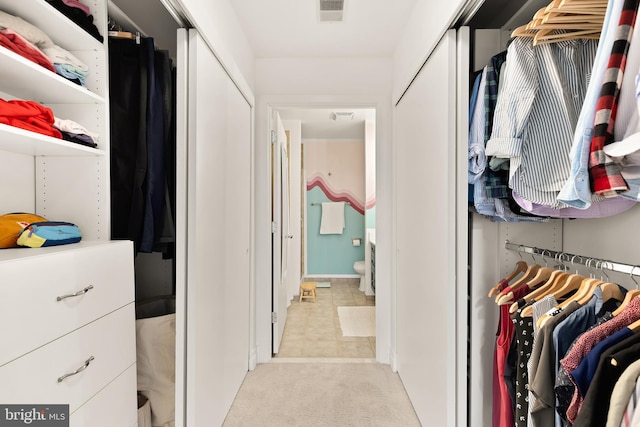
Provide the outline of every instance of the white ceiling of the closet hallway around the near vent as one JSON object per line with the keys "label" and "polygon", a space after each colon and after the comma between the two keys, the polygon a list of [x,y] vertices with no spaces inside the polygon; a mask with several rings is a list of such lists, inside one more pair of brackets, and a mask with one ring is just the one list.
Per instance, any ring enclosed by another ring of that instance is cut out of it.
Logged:
{"label": "white ceiling of the closet hallway around the near vent", "polygon": [[319,0],[231,0],[256,58],[390,57],[416,0],[345,0],[344,21],[319,22]]}

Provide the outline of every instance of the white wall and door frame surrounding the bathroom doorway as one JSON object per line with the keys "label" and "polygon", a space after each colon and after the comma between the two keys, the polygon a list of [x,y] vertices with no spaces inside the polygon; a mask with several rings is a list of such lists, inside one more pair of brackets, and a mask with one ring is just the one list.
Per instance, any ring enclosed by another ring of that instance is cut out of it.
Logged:
{"label": "white wall and door frame surrounding the bathroom doorway", "polygon": [[[390,58],[264,58],[256,60],[256,301],[258,362],[271,359],[270,188],[268,117],[272,108],[376,109],[378,361],[391,352],[391,83]],[[380,317],[382,316],[382,317]],[[267,339],[268,338],[268,339]]]}

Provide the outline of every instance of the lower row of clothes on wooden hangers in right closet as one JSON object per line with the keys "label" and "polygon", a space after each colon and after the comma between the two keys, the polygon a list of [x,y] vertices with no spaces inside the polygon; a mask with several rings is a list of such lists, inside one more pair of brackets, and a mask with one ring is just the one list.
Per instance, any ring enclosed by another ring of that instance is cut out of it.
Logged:
{"label": "lower row of clothes on wooden hangers in right closet", "polygon": [[[636,284],[628,290],[609,280],[613,263],[562,253],[554,260],[521,258],[489,292],[499,310],[493,426],[640,426],[636,267],[627,266]],[[573,264],[590,274],[569,271]]]}

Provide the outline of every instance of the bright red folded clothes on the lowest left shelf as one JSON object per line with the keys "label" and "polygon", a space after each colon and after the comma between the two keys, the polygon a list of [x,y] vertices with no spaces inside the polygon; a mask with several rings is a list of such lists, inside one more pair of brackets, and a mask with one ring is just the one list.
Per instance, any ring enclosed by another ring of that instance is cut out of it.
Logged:
{"label": "bright red folded clothes on the lowest left shelf", "polygon": [[62,139],[59,130],[53,127],[53,111],[34,101],[0,98],[0,123],[31,132]]}

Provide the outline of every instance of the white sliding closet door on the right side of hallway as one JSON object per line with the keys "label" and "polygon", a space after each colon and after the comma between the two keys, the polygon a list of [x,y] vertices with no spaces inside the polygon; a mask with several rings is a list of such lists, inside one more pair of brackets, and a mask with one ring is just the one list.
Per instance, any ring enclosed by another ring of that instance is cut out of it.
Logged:
{"label": "white sliding closet door on the right side of hallway", "polygon": [[397,366],[425,426],[466,425],[466,173],[456,165],[466,158],[457,120],[468,66],[457,67],[468,42],[460,56],[457,43],[456,31],[444,35],[394,120]]}

